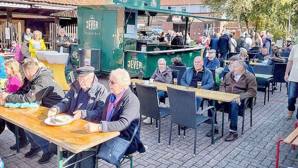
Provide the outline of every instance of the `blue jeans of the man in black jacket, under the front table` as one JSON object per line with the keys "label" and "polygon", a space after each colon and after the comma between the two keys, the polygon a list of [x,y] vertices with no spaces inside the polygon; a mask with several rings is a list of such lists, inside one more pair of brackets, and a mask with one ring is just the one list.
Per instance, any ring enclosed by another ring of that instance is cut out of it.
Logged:
{"label": "blue jeans of the man in black jacket, under the front table", "polygon": [[34,133],[29,132],[29,131],[25,130],[25,132],[28,137],[28,141],[31,144],[31,148],[40,147],[44,154],[49,151],[49,145],[50,145],[49,141],[47,141],[47,140],[35,135]]}

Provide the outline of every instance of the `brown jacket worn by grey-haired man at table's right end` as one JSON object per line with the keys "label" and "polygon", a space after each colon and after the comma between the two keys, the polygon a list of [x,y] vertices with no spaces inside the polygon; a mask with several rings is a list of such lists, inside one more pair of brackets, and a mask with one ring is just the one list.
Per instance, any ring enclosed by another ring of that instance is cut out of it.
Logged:
{"label": "brown jacket worn by grey-haired man at table's right end", "polygon": [[257,95],[257,80],[252,73],[245,70],[238,82],[235,81],[234,77],[234,72],[227,73],[223,84],[219,87],[219,92],[239,94],[241,100]]}

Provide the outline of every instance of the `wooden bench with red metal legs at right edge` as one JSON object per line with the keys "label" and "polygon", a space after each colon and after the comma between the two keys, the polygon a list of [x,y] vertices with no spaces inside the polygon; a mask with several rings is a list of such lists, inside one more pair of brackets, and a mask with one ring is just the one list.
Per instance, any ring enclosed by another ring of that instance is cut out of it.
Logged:
{"label": "wooden bench with red metal legs at right edge", "polygon": [[288,137],[285,139],[279,139],[277,141],[277,150],[276,150],[276,164],[275,167],[278,168],[278,162],[279,162],[279,145],[281,141],[284,141],[284,143],[291,144],[292,148],[295,149],[295,146],[298,146],[298,121],[295,123],[295,129],[293,132],[290,133]]}

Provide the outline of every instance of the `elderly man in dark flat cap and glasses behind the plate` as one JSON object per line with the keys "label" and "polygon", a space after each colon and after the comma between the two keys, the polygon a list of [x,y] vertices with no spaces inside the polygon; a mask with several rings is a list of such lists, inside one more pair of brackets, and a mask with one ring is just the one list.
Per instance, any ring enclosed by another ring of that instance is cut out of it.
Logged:
{"label": "elderly man in dark flat cap and glasses behind the plate", "polygon": [[[99,124],[100,120],[95,120],[95,117],[89,116],[101,116],[101,110],[108,97],[108,91],[106,87],[98,82],[97,77],[94,75],[94,70],[95,68],[92,66],[84,66],[77,69],[75,71],[77,81],[70,84],[69,92],[60,103],[54,105],[48,111],[47,116],[51,117],[59,113],[65,113],[74,116],[74,120],[83,119]],[[87,115],[87,113],[90,115]],[[49,150],[53,153],[57,153],[57,146],[51,143]],[[86,158],[94,153],[94,151],[80,152],[71,158],[67,162],[67,165],[80,160],[80,158]],[[73,153],[68,151],[68,156],[71,156],[72,154]],[[77,164],[82,165],[81,167],[85,167],[86,165],[95,163],[95,159],[96,157],[94,155]],[[74,165],[69,167],[74,167]]]}

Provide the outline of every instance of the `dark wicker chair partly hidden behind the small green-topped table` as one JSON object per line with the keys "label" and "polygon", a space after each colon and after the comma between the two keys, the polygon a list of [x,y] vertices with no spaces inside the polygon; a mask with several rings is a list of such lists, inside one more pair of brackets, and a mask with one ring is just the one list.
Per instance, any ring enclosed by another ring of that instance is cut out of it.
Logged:
{"label": "dark wicker chair partly hidden behind the small green-topped table", "polygon": [[[273,66],[267,66],[267,65],[254,65],[253,66],[253,71],[256,74],[266,74],[266,75],[272,75],[272,68]],[[257,79],[257,89],[260,92],[265,92],[264,94],[264,106],[266,105],[266,89],[268,88],[268,102],[269,102],[269,87],[270,87],[270,81],[272,78],[268,79],[263,79],[263,78],[258,78]],[[256,97],[255,97],[255,102],[256,102]]]}

